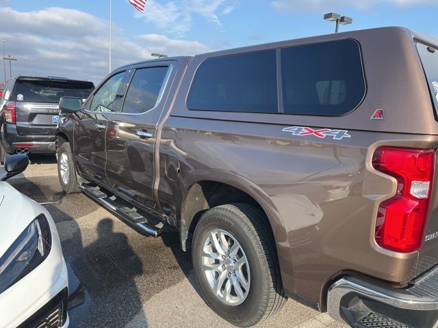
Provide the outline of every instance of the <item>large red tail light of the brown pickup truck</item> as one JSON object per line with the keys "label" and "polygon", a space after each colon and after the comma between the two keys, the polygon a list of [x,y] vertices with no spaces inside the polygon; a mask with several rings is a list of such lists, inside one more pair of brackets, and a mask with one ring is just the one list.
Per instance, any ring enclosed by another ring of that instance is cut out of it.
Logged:
{"label": "large red tail light of the brown pickup truck", "polygon": [[396,178],[396,195],[378,208],[376,242],[409,253],[420,249],[432,190],[435,150],[381,147],[373,166]]}

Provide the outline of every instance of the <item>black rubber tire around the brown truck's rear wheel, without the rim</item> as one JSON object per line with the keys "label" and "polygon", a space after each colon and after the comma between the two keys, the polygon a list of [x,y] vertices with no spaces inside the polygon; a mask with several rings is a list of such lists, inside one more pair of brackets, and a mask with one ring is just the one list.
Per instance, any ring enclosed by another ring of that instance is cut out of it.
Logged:
{"label": "black rubber tire around the brown truck's rear wheel, without the rim", "polygon": [[[239,305],[222,303],[211,290],[203,270],[203,243],[207,234],[215,229],[231,233],[248,259],[250,287],[246,299]],[[207,210],[196,226],[192,245],[194,273],[201,294],[209,307],[229,323],[251,327],[283,307],[287,298],[281,283],[274,238],[261,210],[248,204],[228,204]]]}

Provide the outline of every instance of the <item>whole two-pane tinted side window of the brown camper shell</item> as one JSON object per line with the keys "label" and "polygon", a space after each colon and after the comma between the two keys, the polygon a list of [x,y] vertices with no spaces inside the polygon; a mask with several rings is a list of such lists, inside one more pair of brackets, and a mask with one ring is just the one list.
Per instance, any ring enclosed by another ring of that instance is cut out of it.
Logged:
{"label": "whole two-pane tinted side window of the brown camper shell", "polygon": [[[281,51],[281,61],[276,51]],[[187,106],[201,111],[342,115],[364,96],[360,46],[346,39],[209,58],[194,74]]]}

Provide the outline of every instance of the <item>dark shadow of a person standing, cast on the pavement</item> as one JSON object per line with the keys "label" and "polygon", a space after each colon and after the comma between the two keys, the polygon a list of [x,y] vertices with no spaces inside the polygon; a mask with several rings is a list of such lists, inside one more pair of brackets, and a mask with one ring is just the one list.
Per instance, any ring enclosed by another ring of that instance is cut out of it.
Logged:
{"label": "dark shadow of a person standing, cast on the pavement", "polygon": [[[142,275],[142,261],[125,234],[114,232],[114,221],[97,225],[98,238],[83,249],[83,256],[70,262],[80,282],[70,301],[70,327],[125,327],[142,314],[142,299],[134,278]],[[108,244],[108,241],[111,241]],[[122,264],[122,265],[121,265]],[[79,302],[83,300],[83,304]],[[147,327],[143,315],[141,327]]]}

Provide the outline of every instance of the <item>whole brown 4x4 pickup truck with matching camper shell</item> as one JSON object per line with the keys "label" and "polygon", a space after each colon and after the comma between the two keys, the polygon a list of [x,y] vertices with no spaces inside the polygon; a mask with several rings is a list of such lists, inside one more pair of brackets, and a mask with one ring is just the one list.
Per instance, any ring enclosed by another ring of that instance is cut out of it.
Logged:
{"label": "whole brown 4x4 pickup truck with matching camper shell", "polygon": [[400,27],[115,70],[62,98],[59,176],[179,230],[233,325],[287,297],[351,327],[437,327],[438,40]]}

